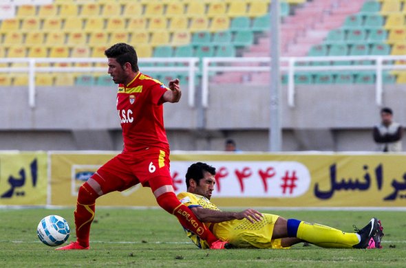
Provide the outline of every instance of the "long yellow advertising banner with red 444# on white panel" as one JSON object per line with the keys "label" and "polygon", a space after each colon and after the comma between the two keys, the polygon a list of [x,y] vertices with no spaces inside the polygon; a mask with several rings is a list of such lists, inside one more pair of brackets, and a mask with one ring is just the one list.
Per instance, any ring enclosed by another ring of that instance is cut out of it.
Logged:
{"label": "long yellow advertising banner with red 444# on white panel", "polygon": [[[78,187],[116,153],[51,153],[51,204],[74,205]],[[217,170],[213,201],[222,207],[405,207],[406,155],[171,155],[175,192],[196,161]],[[138,185],[100,197],[98,205],[156,206]]]}

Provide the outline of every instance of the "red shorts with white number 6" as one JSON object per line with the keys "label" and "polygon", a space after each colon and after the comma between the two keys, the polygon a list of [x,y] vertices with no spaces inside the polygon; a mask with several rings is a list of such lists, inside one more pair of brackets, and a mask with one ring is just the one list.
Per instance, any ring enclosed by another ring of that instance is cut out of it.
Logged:
{"label": "red shorts with white number 6", "polygon": [[103,194],[123,191],[141,183],[154,191],[160,186],[173,185],[169,171],[169,151],[147,148],[136,153],[120,153],[101,166],[92,179]]}

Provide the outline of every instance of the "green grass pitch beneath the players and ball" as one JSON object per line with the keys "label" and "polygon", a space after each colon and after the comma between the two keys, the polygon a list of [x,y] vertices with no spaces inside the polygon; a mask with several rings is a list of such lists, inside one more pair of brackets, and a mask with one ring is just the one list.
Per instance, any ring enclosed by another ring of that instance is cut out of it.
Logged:
{"label": "green grass pitch beneath the players and ball", "polygon": [[70,223],[73,208],[61,210],[0,209],[0,267],[406,267],[404,211],[266,211],[352,232],[372,216],[381,219],[383,249],[201,250],[189,243],[174,216],[160,209],[98,208],[88,251],[56,252],[36,236],[48,214]]}

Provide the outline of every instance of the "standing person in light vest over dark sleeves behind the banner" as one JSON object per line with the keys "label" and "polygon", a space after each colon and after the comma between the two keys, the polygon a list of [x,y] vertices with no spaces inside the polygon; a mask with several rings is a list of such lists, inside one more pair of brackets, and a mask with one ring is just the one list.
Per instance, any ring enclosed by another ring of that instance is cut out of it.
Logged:
{"label": "standing person in light vest over dark sleeves behind the banner", "polygon": [[403,130],[399,123],[393,120],[390,108],[381,109],[381,124],[374,126],[374,140],[381,152],[400,152],[402,150]]}

